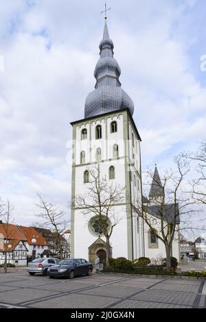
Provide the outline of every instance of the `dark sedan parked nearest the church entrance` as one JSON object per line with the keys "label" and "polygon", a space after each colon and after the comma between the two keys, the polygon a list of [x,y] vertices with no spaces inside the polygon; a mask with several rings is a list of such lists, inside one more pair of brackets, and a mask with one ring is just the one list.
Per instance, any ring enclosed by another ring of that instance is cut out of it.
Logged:
{"label": "dark sedan parked nearest the church entrance", "polygon": [[77,275],[90,276],[93,271],[93,265],[83,258],[67,258],[58,263],[58,265],[49,268],[50,278],[67,277],[73,278]]}

